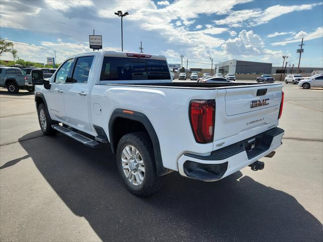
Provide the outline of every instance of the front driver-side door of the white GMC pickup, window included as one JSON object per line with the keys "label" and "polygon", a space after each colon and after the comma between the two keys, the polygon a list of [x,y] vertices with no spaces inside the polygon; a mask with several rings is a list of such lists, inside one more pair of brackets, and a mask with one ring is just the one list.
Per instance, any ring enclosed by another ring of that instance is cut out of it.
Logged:
{"label": "front driver-side door of the white GMC pickup, window included", "polygon": [[49,115],[52,119],[66,122],[65,106],[64,106],[64,87],[71,71],[73,59],[66,61],[56,72],[50,89],[45,93],[45,99]]}

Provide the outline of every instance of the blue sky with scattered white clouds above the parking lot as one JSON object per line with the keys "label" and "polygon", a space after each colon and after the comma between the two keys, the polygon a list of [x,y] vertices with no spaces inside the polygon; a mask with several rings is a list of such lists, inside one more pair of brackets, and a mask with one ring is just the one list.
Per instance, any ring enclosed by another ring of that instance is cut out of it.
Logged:
{"label": "blue sky with scattered white clouds above the parking lot", "polygon": [[[15,41],[19,57],[45,62],[56,49],[60,63],[89,51],[88,35],[102,35],[105,50],[163,54],[169,63],[208,67],[237,58],[282,65],[298,63],[296,49],[304,37],[301,66],[323,66],[322,1],[6,1],[0,3],[0,35]],[[12,59],[4,54],[1,59]]]}

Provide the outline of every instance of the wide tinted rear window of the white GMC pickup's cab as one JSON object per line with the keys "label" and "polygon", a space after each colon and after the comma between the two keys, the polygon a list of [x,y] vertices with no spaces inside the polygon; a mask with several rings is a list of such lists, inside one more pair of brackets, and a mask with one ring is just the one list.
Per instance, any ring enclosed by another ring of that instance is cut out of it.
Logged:
{"label": "wide tinted rear window of the white GMC pickup's cab", "polygon": [[166,61],[122,57],[104,57],[101,81],[171,79]]}

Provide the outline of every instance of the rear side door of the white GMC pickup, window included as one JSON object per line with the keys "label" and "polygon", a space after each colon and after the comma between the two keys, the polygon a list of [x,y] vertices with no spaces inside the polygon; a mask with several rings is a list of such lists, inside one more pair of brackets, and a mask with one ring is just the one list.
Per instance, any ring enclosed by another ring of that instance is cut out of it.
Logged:
{"label": "rear side door of the white GMC pickup, window included", "polygon": [[66,123],[76,129],[91,132],[89,119],[89,74],[94,55],[75,59],[71,78],[64,86]]}

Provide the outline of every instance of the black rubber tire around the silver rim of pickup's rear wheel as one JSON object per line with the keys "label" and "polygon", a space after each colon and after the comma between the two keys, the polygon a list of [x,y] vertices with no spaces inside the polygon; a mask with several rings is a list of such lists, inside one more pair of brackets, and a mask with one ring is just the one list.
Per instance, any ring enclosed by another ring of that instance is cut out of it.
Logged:
{"label": "black rubber tire around the silver rim of pickup's rear wheel", "polygon": [[[129,145],[138,150],[144,162],[145,172],[141,185],[133,185],[126,177],[122,167],[122,152]],[[126,134],[120,139],[117,148],[117,165],[127,189],[137,196],[146,197],[157,192],[163,186],[163,177],[157,175],[153,147],[149,136],[145,132]]]}

